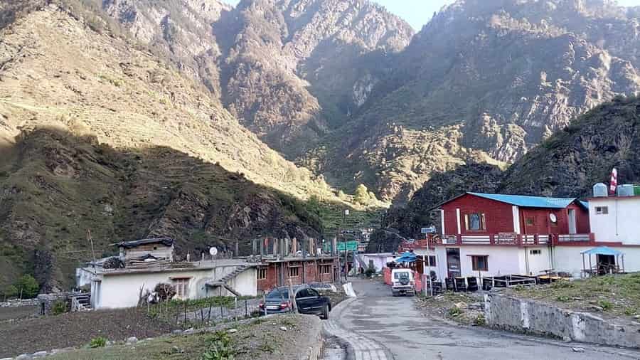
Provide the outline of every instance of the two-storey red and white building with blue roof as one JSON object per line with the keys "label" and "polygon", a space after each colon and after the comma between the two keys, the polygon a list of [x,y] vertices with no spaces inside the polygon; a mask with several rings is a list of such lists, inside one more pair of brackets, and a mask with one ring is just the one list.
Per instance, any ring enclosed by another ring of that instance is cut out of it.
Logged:
{"label": "two-storey red and white building with blue roof", "polygon": [[562,271],[558,247],[594,243],[588,206],[577,198],[462,194],[435,209],[441,235],[415,253],[429,256],[425,270],[440,279]]}

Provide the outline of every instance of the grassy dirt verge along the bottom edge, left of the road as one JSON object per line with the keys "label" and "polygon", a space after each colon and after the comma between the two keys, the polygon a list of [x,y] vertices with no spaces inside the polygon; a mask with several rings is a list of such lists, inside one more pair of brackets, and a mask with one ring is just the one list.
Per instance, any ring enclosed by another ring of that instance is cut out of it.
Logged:
{"label": "grassy dirt verge along the bottom edge, left of the road", "polygon": [[[287,314],[260,317],[234,327],[222,327],[231,340],[235,360],[295,360],[301,349],[311,345],[311,329],[319,326],[315,317]],[[284,328],[284,330],[282,329]],[[229,332],[235,329],[235,332]],[[203,359],[215,334],[159,337],[137,344],[119,344],[100,349],[80,349],[49,356],[52,360],[89,359]]]}

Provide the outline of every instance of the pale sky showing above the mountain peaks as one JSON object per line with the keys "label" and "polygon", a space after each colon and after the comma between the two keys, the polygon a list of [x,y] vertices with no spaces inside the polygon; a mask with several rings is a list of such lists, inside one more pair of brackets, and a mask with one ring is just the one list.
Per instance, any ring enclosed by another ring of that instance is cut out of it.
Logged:
{"label": "pale sky showing above the mountain peaks", "polygon": [[[239,0],[223,0],[229,4],[238,4]],[[385,6],[388,11],[404,18],[411,24],[415,31],[420,31],[433,16],[434,11],[439,11],[444,5],[452,4],[454,0],[373,0]],[[640,6],[640,0],[618,0],[622,6]]]}

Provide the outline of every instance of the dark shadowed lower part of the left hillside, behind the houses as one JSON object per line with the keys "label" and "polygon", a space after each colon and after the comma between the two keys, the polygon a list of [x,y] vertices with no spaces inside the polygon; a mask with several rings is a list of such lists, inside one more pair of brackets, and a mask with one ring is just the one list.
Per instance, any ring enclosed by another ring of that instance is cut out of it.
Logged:
{"label": "dark shadowed lower part of the left hillside, behind the houses", "polygon": [[[287,194],[168,147],[114,149],[56,129],[23,132],[0,159],[0,264],[4,282],[31,272],[46,287],[109,244],[171,236],[178,256],[240,248],[260,235],[319,236],[318,216]],[[231,240],[233,239],[233,240]],[[49,270],[46,270],[49,269]]]}

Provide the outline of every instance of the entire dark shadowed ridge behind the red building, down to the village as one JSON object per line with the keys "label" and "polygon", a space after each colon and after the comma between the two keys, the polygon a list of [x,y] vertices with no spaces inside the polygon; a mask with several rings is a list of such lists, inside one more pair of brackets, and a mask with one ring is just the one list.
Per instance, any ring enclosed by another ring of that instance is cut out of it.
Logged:
{"label": "entire dark shadowed ridge behind the red building, down to the village", "polygon": [[[388,212],[383,226],[418,236],[420,227],[439,223],[430,211],[434,206],[465,191],[589,197],[594,184],[608,183],[614,167],[620,184],[634,184],[640,181],[639,144],[640,97],[616,97],[555,132],[506,171],[470,164],[432,176],[407,206]],[[393,245],[396,238],[379,236],[373,247]]]}

